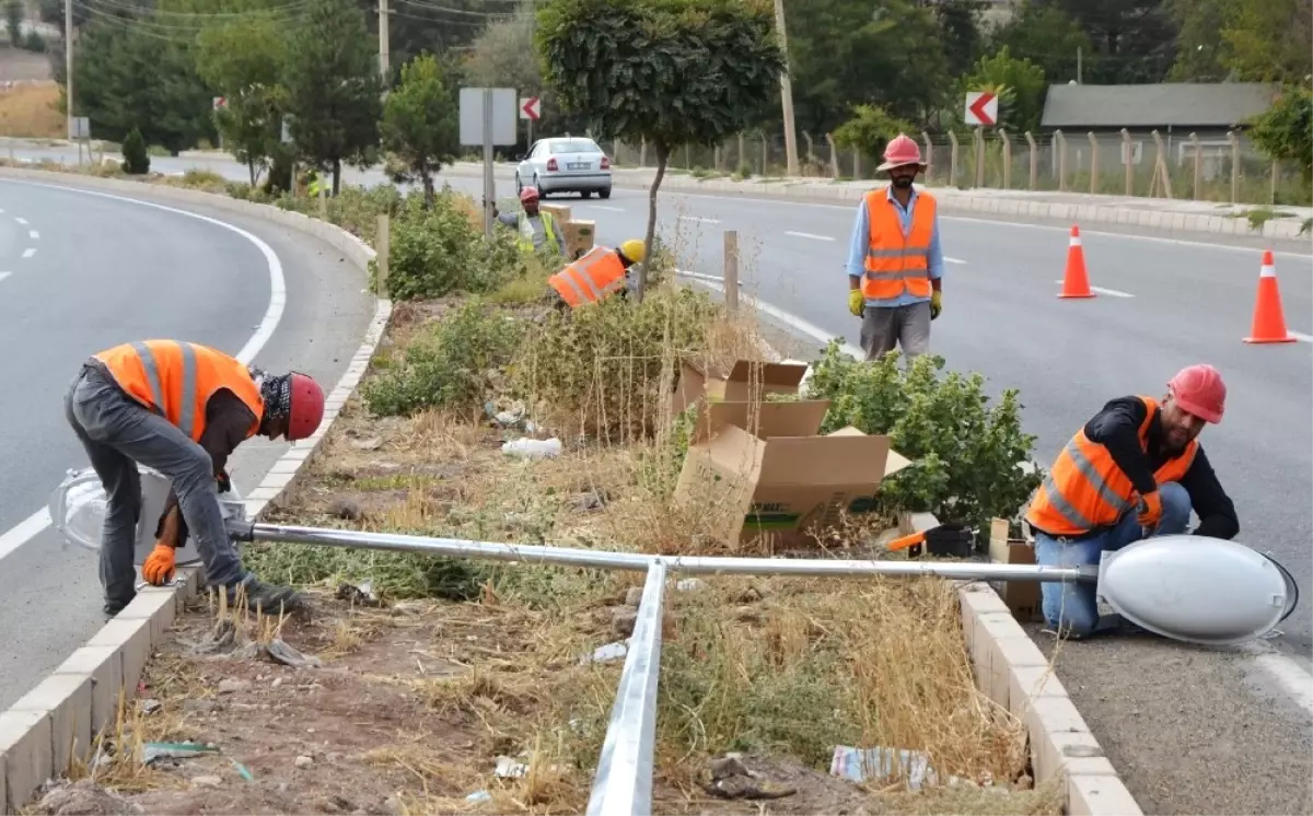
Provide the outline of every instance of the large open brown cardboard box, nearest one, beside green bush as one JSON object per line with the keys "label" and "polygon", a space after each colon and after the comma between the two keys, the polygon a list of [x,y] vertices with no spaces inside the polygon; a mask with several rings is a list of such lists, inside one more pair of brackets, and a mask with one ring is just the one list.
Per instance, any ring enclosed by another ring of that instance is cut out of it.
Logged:
{"label": "large open brown cardboard box, nearest one, beside green bush", "polygon": [[[726,394],[742,382],[730,377]],[[676,501],[725,502],[725,541],[783,547],[814,546],[813,534],[843,513],[873,510],[880,483],[911,462],[889,437],[856,428],[817,436],[829,408],[827,400],[705,401]]]}

